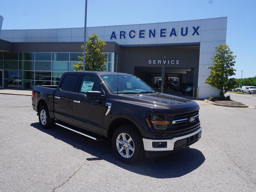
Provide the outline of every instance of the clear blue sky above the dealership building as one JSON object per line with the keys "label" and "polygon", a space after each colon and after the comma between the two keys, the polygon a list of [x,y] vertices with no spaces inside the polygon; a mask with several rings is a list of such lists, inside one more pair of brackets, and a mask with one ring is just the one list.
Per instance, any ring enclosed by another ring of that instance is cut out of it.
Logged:
{"label": "clear blue sky above the dealership building", "polygon": [[[2,29],[84,26],[84,0],[2,1]],[[237,55],[235,77],[256,76],[256,1],[88,0],[87,27],[228,17],[227,44]]]}

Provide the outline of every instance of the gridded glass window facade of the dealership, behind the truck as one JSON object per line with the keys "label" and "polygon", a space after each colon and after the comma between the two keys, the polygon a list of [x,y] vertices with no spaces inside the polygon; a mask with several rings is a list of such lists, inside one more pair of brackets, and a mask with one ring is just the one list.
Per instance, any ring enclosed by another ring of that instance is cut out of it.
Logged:
{"label": "gridded glass window facade of the dealership, behind the truck", "polygon": [[[5,88],[33,89],[58,85],[66,71],[73,71],[81,52],[0,52],[0,73]],[[117,71],[117,54],[108,53],[106,71]],[[0,76],[1,77],[1,76]]]}

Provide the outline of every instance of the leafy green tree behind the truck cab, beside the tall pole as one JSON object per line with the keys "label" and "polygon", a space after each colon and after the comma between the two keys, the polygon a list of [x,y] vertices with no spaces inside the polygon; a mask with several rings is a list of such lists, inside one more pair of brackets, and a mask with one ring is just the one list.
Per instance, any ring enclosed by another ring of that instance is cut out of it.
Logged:
{"label": "leafy green tree behind the truck cab, beside the tall pole", "polygon": [[[99,40],[98,36],[93,33],[90,34],[86,41],[85,47],[85,70],[86,71],[104,71],[106,66],[104,62],[107,62],[108,53],[103,53],[103,47],[106,46],[106,42]],[[84,45],[81,45],[81,49],[84,50]],[[82,52],[84,54],[84,52]],[[77,65],[73,65],[76,71],[83,71],[83,56],[78,56],[81,61]]]}

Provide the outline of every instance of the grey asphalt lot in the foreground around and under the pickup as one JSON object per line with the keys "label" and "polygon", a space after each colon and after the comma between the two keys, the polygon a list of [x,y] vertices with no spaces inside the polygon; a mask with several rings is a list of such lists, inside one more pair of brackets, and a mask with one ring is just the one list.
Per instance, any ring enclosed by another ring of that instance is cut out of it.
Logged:
{"label": "grey asphalt lot in the foreground around and under the pickup", "polygon": [[0,191],[256,191],[256,109],[199,101],[201,140],[128,165],[109,141],[42,129],[30,96],[0,101]]}

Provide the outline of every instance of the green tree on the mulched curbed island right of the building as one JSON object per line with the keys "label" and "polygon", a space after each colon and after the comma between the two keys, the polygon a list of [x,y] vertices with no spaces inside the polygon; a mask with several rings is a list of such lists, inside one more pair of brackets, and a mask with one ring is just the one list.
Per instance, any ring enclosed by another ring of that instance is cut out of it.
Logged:
{"label": "green tree on the mulched curbed island right of the building", "polygon": [[220,97],[224,97],[228,89],[234,88],[238,84],[235,78],[229,78],[236,75],[236,69],[233,68],[236,63],[236,55],[233,55],[227,44],[220,44],[220,46],[215,47],[215,51],[217,53],[211,58],[214,61],[214,65],[208,67],[210,68],[210,75],[204,83],[220,89]]}

